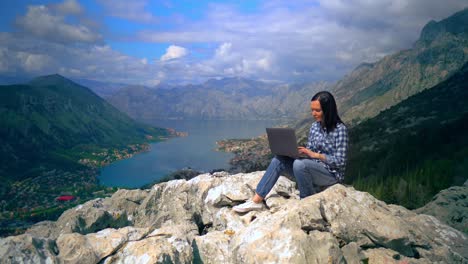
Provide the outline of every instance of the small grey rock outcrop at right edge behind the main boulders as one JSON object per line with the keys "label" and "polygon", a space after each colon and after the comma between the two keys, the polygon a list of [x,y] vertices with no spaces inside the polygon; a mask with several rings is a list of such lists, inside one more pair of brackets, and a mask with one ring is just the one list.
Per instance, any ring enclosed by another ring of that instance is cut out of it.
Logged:
{"label": "small grey rock outcrop at right edge behind the main boulders", "polygon": [[439,192],[431,202],[415,210],[433,215],[443,223],[468,234],[468,181]]}

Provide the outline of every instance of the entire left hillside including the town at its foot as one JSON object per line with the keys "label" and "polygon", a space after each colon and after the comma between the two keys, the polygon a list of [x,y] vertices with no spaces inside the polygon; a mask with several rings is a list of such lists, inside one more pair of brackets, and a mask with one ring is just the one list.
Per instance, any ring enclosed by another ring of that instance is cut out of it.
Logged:
{"label": "entire left hillside including the town at its foot", "polygon": [[0,113],[0,223],[6,215],[20,220],[10,214],[18,210],[57,206],[63,193],[99,190],[94,168],[169,135],[59,75],[0,86]]}

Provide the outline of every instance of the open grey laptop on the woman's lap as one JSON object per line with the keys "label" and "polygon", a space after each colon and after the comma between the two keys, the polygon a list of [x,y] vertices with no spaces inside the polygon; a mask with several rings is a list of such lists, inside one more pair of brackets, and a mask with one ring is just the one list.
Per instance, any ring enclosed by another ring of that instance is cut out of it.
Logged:
{"label": "open grey laptop on the woman's lap", "polygon": [[266,131],[271,153],[291,158],[303,156],[297,151],[298,145],[294,129],[275,127],[267,128]]}

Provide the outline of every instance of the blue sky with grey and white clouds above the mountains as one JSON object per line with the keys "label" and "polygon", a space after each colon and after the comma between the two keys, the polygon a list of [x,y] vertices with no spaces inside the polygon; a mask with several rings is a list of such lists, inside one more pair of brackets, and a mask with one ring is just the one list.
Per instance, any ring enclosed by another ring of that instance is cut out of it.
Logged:
{"label": "blue sky with grey and white clouds above the mountains", "polygon": [[0,3],[0,76],[156,85],[241,76],[338,80],[407,49],[466,0],[16,0]]}

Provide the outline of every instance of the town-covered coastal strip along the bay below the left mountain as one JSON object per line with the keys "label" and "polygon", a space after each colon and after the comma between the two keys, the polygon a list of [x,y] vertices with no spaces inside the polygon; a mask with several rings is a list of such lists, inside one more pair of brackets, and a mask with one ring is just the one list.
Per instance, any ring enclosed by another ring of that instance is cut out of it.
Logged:
{"label": "town-covered coastal strip along the bay below the left mountain", "polygon": [[[14,182],[7,193],[8,200],[0,201],[0,237],[22,234],[37,222],[56,220],[65,210],[78,204],[111,196],[119,188],[101,185],[99,168],[147,152],[151,149],[150,143],[188,135],[167,130],[169,136],[147,135],[143,143],[82,150],[72,155],[76,157],[77,168],[40,168],[37,176]],[[61,195],[71,195],[75,199],[58,201]]]}

